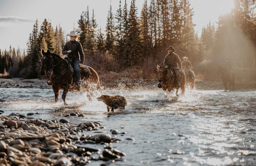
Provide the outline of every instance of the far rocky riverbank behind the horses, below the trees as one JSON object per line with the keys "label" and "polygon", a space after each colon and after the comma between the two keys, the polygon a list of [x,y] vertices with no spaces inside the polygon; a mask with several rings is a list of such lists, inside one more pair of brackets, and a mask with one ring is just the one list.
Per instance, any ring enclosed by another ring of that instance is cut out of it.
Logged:
{"label": "far rocky riverbank behind the horses, below the trees", "polygon": [[[103,88],[113,89],[150,89],[153,90],[156,88],[158,80],[153,79],[113,79],[106,76],[100,77],[100,85]],[[51,86],[47,85],[46,79],[22,79],[22,78],[13,78],[13,79],[1,79],[0,78],[0,88],[39,88],[39,89],[52,89]],[[197,90],[223,90],[224,86],[222,81],[208,81],[208,80],[195,80],[195,88]],[[233,88],[231,88],[233,89]],[[255,82],[235,82],[234,90],[241,89],[256,89]]]}

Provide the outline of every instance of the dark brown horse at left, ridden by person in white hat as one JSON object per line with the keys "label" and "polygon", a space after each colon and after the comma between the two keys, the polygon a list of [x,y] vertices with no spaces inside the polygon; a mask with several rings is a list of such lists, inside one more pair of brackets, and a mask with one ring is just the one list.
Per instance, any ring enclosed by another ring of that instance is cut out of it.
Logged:
{"label": "dark brown horse at left, ridden by person in white hat", "polygon": [[[52,89],[55,94],[55,102],[58,102],[59,91],[63,89],[61,98],[64,104],[67,104],[66,95],[68,91],[76,91],[76,81],[73,77],[74,71],[66,59],[50,52],[48,49],[47,52],[44,52],[44,49],[42,49],[42,56],[40,74],[44,76],[48,70],[52,69],[50,81],[52,82]],[[86,91],[88,99],[92,101],[92,92],[96,89],[101,89],[97,72],[89,66],[88,68],[92,74],[82,75],[83,72],[81,72],[81,90]]]}

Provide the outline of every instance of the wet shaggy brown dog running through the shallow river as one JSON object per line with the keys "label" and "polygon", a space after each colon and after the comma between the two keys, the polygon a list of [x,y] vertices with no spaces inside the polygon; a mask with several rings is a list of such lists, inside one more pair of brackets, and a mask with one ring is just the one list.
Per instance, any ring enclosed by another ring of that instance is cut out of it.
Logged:
{"label": "wet shaggy brown dog running through the shallow river", "polygon": [[116,96],[109,96],[109,95],[101,95],[97,97],[98,101],[102,101],[107,105],[107,109],[109,112],[109,108],[111,111],[114,112],[114,109],[120,108],[124,109],[127,105],[127,102],[123,96],[116,95]]}

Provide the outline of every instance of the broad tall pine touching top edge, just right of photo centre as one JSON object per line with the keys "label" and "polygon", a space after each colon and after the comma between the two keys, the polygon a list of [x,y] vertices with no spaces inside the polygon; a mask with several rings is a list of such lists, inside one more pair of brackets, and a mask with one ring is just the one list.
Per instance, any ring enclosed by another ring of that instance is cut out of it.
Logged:
{"label": "broad tall pine touching top edge, just right of photo centre", "polygon": [[131,2],[128,25],[128,37],[125,43],[125,55],[127,57],[127,66],[138,64],[142,59],[140,46],[140,29],[137,17],[137,8],[135,6],[135,0],[132,0]]}

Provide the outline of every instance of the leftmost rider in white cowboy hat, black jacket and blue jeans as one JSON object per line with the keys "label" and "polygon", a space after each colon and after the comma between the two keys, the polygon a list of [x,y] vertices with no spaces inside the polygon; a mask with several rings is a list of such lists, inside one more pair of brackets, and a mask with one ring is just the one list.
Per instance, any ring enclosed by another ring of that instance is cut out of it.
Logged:
{"label": "leftmost rider in white cowboy hat, black jacket and blue jeans", "polygon": [[80,74],[80,67],[83,67],[84,63],[84,51],[82,45],[79,41],[76,41],[79,38],[79,35],[76,35],[75,31],[71,31],[70,34],[70,41],[66,42],[64,48],[62,49],[62,54],[68,54],[68,58],[72,61],[74,71],[76,74],[76,81],[79,86],[81,87],[81,74]]}

